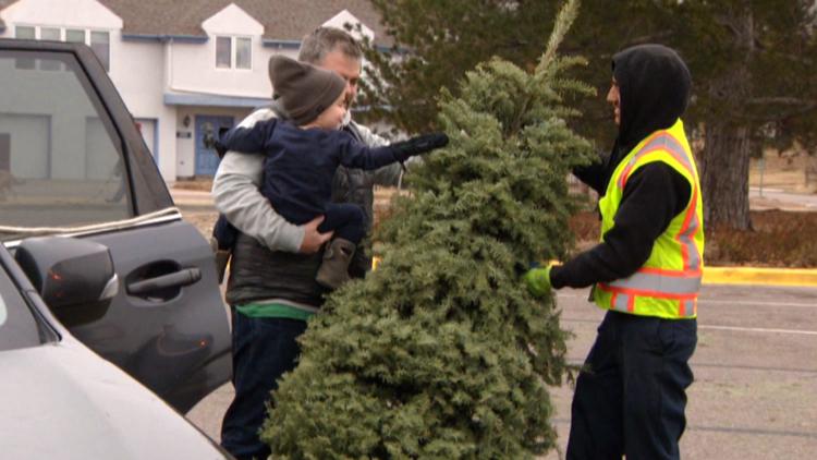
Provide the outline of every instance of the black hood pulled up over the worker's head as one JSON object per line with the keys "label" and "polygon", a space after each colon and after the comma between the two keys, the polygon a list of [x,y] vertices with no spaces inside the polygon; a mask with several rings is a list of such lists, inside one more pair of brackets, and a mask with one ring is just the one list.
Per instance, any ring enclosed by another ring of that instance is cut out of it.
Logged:
{"label": "black hood pulled up over the worker's head", "polygon": [[692,76],[681,57],[663,45],[638,45],[613,56],[621,95],[617,145],[632,149],[650,133],[671,128],[690,101]]}

